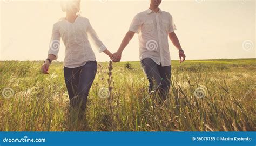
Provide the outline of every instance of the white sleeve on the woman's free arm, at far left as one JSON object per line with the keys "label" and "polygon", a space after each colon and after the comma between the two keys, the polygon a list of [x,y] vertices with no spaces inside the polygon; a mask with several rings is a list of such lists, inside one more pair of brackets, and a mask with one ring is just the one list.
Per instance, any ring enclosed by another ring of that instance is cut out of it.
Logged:
{"label": "white sleeve on the woman's free arm, at far left", "polygon": [[60,33],[59,33],[59,27],[58,24],[53,24],[52,28],[52,36],[51,41],[49,45],[48,55],[53,54],[55,55],[55,59],[58,59],[58,53],[60,48]]}

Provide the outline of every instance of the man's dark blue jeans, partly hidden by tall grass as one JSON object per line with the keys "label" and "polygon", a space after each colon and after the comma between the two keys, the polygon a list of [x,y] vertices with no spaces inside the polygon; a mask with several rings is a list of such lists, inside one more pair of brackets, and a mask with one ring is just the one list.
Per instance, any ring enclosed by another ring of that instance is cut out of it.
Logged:
{"label": "man's dark blue jeans, partly hidden by tall grass", "polygon": [[151,58],[144,58],[140,63],[149,80],[149,93],[157,91],[160,98],[165,100],[171,85],[171,66],[158,65]]}

